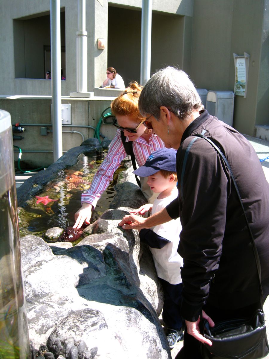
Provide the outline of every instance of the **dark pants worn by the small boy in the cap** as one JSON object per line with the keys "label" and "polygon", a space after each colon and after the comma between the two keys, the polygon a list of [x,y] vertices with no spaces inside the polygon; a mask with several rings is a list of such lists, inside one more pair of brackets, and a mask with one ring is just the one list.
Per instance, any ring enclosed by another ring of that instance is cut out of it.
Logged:
{"label": "dark pants worn by the small boy in the cap", "polygon": [[179,330],[182,327],[182,318],[179,314],[182,300],[182,283],[170,284],[164,279],[159,278],[159,280],[164,290],[162,320],[165,322],[167,328]]}

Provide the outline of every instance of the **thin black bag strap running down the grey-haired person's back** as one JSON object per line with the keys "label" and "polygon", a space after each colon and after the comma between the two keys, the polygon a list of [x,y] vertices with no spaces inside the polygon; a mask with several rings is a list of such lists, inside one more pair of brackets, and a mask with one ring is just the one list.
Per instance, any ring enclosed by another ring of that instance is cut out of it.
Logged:
{"label": "thin black bag strap running down the grey-haired person's back", "polygon": [[[203,131],[205,132],[205,131]],[[213,142],[211,141],[208,137],[202,135],[202,134],[195,134],[193,135],[195,136],[194,138],[197,139],[198,137],[201,137],[203,138],[204,140],[208,141],[213,147],[214,149],[220,154],[221,158],[223,159],[223,161],[225,162],[229,172],[230,172],[230,176],[231,176],[231,179],[232,179],[232,182],[233,182],[233,185],[235,186],[235,190],[236,190],[236,193],[237,193],[237,196],[239,198],[239,201],[240,201],[240,205],[241,205],[241,208],[243,210],[243,213],[244,213],[244,217],[245,217],[245,220],[246,220],[246,224],[247,224],[247,228],[249,230],[249,234],[250,234],[250,239],[251,239],[251,246],[252,246],[252,249],[253,249],[253,253],[254,253],[254,258],[255,258],[255,262],[256,262],[256,267],[257,267],[257,271],[258,271],[258,278],[259,278],[259,287],[260,287],[260,290],[259,290],[259,298],[260,298],[260,305],[261,305],[261,309],[263,310],[263,289],[261,288],[261,265],[260,265],[260,258],[259,258],[259,255],[258,255],[258,251],[257,251],[257,248],[256,248],[256,245],[255,245],[255,241],[254,241],[254,238],[253,238],[253,234],[251,232],[251,228],[250,228],[250,225],[249,225],[249,221],[247,220],[247,216],[246,216],[246,212],[245,212],[245,209],[244,209],[244,205],[243,205],[243,202],[242,202],[242,199],[241,199],[241,196],[240,196],[240,192],[239,192],[239,189],[237,187],[237,184],[236,184],[236,181],[235,181],[235,177],[233,176],[233,173],[232,173],[232,169],[225,157],[225,155],[222,153],[222,151],[218,148],[218,146]],[[192,141],[191,141],[192,142]],[[193,141],[194,142],[194,141]],[[192,142],[192,144],[193,144]],[[190,148],[189,148],[190,150]],[[189,150],[188,152],[186,151],[185,153],[185,157],[186,155],[188,156],[188,153],[189,153]],[[184,158],[185,160],[185,158]],[[187,159],[186,159],[187,160]],[[184,163],[184,161],[183,161]],[[181,177],[181,182],[183,182],[183,177]],[[180,188],[183,188],[183,185],[180,186]]]}

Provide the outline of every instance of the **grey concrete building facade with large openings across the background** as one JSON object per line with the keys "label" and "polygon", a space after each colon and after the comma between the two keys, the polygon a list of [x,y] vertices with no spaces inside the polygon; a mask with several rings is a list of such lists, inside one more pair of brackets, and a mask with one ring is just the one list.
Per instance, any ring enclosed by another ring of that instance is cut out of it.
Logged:
{"label": "grey concrete building facade with large openings across the background", "polygon": [[[151,72],[178,65],[198,88],[233,91],[233,52],[249,53],[247,97],[235,98],[233,126],[253,135],[255,125],[268,123],[268,1],[153,0]],[[108,66],[119,71],[126,85],[129,80],[140,81],[141,4],[142,0],[86,0],[89,92],[98,92]],[[14,53],[13,33],[25,31],[22,18],[38,23],[34,18],[48,15],[49,7],[49,0],[0,2],[0,62],[4,69],[0,94],[51,94],[51,81],[15,78],[14,56],[23,59],[31,51],[24,51],[23,44],[16,41]],[[65,10],[66,45],[66,81],[61,85],[62,95],[69,95],[76,91],[77,1],[61,0],[61,7]],[[104,50],[97,48],[98,38],[104,39]],[[23,61],[16,72],[25,73]],[[105,90],[105,95],[115,93]]]}

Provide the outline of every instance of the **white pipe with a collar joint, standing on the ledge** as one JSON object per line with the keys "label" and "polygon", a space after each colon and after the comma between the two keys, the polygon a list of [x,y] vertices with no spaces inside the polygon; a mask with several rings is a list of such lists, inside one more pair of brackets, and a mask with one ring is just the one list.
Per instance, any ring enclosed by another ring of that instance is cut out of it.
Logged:
{"label": "white pipe with a collar joint, standing on the ledge", "polygon": [[88,92],[88,33],[86,31],[85,0],[78,0],[77,13],[77,92]]}

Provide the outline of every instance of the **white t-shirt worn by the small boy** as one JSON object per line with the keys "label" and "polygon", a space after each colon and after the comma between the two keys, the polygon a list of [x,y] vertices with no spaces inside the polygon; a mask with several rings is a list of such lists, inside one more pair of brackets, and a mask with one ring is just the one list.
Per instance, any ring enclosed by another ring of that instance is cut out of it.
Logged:
{"label": "white t-shirt worn by the small boy", "polygon": [[[160,200],[156,199],[153,202],[152,214],[165,208],[177,196],[178,190],[175,187],[170,196]],[[182,229],[180,219],[171,219],[169,222],[156,225],[151,229],[153,232],[159,234],[159,236],[171,242],[167,243],[161,249],[149,247],[158,277],[166,280],[170,284],[181,283],[180,267],[183,266],[183,258],[178,254],[179,233]]]}

